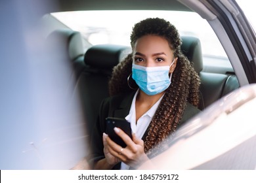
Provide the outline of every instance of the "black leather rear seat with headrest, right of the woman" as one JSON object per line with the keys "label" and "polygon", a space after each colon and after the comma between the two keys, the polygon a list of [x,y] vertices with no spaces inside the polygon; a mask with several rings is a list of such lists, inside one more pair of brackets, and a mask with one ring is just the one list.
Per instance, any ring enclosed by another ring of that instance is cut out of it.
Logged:
{"label": "black leather rear seat with headrest, right of the woman", "polygon": [[224,95],[239,88],[235,75],[223,75],[218,73],[205,73],[203,69],[203,57],[200,40],[196,37],[181,37],[181,50],[185,56],[194,64],[194,68],[201,78],[201,101],[200,109],[211,105]]}

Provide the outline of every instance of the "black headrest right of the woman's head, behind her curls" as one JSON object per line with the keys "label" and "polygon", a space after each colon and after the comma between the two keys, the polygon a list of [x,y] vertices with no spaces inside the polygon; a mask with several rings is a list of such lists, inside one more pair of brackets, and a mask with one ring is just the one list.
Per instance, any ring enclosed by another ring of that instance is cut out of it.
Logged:
{"label": "black headrest right of the woman's head, behind her curls", "polygon": [[200,73],[203,69],[203,57],[200,39],[196,37],[182,36],[181,51],[194,63],[196,73]]}

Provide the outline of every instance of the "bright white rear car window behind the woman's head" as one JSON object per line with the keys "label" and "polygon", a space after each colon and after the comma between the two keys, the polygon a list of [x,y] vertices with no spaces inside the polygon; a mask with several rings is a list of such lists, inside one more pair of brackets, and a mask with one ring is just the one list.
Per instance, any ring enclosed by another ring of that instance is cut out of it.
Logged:
{"label": "bright white rear car window behind the woman's head", "polygon": [[174,24],[181,35],[198,37],[202,43],[204,57],[222,58],[221,60],[224,62],[227,59],[223,46],[221,46],[213,29],[196,12],[100,10],[55,12],[52,15],[71,29],[81,32],[91,44],[123,45],[130,45],[129,36],[135,23],[149,17],[164,18]]}

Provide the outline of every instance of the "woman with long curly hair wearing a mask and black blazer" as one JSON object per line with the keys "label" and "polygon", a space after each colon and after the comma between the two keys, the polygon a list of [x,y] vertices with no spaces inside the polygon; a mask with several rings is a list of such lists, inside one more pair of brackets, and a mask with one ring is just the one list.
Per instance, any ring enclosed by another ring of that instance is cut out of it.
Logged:
{"label": "woman with long curly hair wearing a mask and black blazer", "polygon": [[[178,125],[197,114],[200,79],[181,53],[175,26],[160,18],[135,24],[132,53],[114,68],[93,135],[94,169],[135,169],[160,154]],[[127,80],[128,78],[128,80]],[[115,131],[125,148],[106,135],[106,117],[125,118],[133,137]]]}

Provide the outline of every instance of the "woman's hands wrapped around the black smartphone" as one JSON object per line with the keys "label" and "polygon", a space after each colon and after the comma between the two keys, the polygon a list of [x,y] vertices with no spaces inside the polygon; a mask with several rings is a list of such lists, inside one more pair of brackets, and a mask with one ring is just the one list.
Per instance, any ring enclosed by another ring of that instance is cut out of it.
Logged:
{"label": "woman's hands wrapped around the black smartphone", "polygon": [[[108,158],[112,159],[111,162],[121,160],[130,167],[137,168],[139,165],[144,163],[144,161],[148,160],[148,157],[144,152],[144,142],[141,139],[137,139],[135,134],[133,134],[133,139],[131,139],[126,133],[117,127],[115,127],[114,130],[116,131],[117,135],[123,139],[127,146],[126,148],[122,148],[109,137],[106,137],[106,152],[108,152]],[[116,158],[116,161],[114,161],[114,158]]]}

